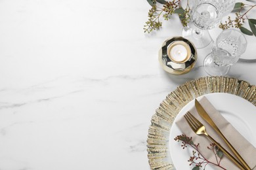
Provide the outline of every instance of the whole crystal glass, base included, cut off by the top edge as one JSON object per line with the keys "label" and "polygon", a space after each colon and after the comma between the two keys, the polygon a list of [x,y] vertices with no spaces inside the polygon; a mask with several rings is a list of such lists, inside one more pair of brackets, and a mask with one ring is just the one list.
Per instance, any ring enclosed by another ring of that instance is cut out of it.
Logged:
{"label": "whole crystal glass, base included, cut off by the top edge", "polygon": [[184,27],[182,36],[203,48],[212,41],[209,29],[219,24],[221,18],[234,9],[235,0],[193,0],[190,12],[191,22]]}

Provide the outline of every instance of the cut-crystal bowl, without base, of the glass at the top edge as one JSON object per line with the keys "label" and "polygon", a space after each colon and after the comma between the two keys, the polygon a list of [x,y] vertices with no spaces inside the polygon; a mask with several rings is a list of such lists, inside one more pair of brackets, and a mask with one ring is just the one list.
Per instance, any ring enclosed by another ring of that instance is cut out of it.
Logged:
{"label": "cut-crystal bowl, without base, of the glass at the top edge", "polygon": [[191,19],[200,29],[213,29],[234,8],[234,0],[194,0]]}

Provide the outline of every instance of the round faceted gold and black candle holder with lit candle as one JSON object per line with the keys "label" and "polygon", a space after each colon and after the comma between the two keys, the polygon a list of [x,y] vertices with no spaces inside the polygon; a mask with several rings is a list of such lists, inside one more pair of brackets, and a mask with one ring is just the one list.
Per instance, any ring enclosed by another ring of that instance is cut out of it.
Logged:
{"label": "round faceted gold and black candle holder with lit candle", "polygon": [[172,75],[188,73],[194,67],[197,58],[194,44],[183,37],[167,39],[159,51],[161,67]]}

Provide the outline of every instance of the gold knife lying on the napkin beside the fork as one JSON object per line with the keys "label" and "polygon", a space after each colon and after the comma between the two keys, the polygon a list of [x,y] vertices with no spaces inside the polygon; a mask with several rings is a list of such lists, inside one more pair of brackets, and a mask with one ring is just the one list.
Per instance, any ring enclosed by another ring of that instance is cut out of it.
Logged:
{"label": "gold knife lying on the napkin beside the fork", "polygon": [[228,145],[228,147],[232,150],[232,152],[235,154],[235,156],[238,158],[239,161],[241,161],[242,165],[244,165],[245,169],[251,170],[251,168],[247,165],[247,163],[244,161],[244,159],[238,154],[236,149],[232,146],[232,144],[229,143],[228,139],[224,137],[223,133],[221,133],[220,129],[216,126],[216,124],[213,122],[209,114],[203,109],[202,105],[198,102],[198,100],[195,100],[196,110],[198,110],[198,113],[200,116],[205,120],[213,129],[221,136],[223,141]]}

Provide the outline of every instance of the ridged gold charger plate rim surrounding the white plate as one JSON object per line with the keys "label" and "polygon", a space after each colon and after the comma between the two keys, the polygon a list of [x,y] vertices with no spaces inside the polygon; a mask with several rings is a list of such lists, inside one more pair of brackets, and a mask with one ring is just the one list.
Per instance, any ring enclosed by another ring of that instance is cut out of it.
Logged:
{"label": "ridged gold charger plate rim surrounding the white plate", "polygon": [[256,106],[256,86],[237,78],[206,76],[179,86],[167,95],[152,116],[147,140],[151,169],[173,169],[169,152],[169,135],[173,121],[187,103],[208,93],[238,95]]}

